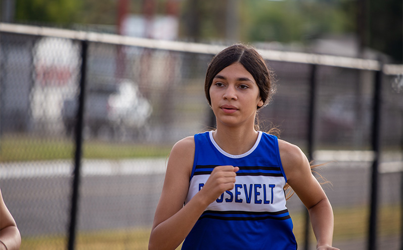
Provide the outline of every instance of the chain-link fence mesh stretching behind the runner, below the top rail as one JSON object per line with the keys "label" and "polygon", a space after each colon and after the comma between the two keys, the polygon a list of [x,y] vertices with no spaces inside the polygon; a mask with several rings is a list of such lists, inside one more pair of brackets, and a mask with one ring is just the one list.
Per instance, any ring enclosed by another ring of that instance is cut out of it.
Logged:
{"label": "chain-link fence mesh stretching behind the runner, below the top rail", "polygon": [[[106,34],[92,39],[91,33],[5,29],[0,36],[0,187],[21,231],[21,249],[65,249],[73,210],[76,249],[147,249],[170,148],[214,126],[203,87],[218,47],[206,46],[210,52],[203,52],[188,44],[187,50],[177,50],[167,43],[164,49],[162,42],[143,40],[141,46]],[[371,173],[379,155],[376,245],[401,249],[403,70],[384,70],[380,78],[377,152],[377,70],[286,57],[269,58],[268,64],[276,73],[277,94],[259,111],[261,128],[278,126],[282,139],[316,163],[327,162],[319,172],[332,183],[324,189],[335,214],[334,245],[368,248]],[[303,249],[305,209],[296,196],[288,207]],[[314,238],[309,245],[314,248]]]}

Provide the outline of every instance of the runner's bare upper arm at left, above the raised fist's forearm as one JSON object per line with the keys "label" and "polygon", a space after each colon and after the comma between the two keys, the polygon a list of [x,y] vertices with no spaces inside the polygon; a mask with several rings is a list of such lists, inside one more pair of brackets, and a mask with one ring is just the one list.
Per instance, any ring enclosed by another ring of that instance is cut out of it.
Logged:
{"label": "runner's bare upper arm at left, above the raised fist's forearm", "polygon": [[194,154],[194,137],[187,137],[178,141],[172,147],[161,197],[155,212],[153,228],[183,207],[189,190]]}

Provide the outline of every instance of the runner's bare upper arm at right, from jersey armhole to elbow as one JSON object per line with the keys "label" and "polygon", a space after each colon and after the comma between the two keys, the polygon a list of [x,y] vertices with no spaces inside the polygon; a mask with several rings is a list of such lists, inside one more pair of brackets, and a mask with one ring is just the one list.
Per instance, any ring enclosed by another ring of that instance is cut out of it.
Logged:
{"label": "runner's bare upper arm at right, from jersey armhole to elbow", "polygon": [[301,149],[279,140],[279,150],[287,182],[307,209],[327,198],[321,185],[312,175],[309,161]]}

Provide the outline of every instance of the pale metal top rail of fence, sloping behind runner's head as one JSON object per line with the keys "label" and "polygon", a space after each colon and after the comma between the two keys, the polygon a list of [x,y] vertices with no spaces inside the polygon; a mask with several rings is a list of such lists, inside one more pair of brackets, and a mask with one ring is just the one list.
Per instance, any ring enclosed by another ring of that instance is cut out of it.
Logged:
{"label": "pale metal top rail of fence, sloping behind runner's head", "polygon": [[[183,41],[156,40],[141,37],[131,37],[116,34],[77,31],[42,26],[20,25],[11,23],[0,23],[1,32],[53,36],[59,38],[69,38],[76,40],[87,40],[98,43],[136,46],[150,49],[189,52],[215,55],[226,48],[221,45],[209,45],[201,43],[188,43]],[[377,60],[360,59],[343,56],[331,56],[322,54],[287,52],[276,50],[258,50],[266,60],[318,64],[341,68],[352,68],[362,70],[381,70],[388,75],[403,74],[403,64],[383,64]]]}

